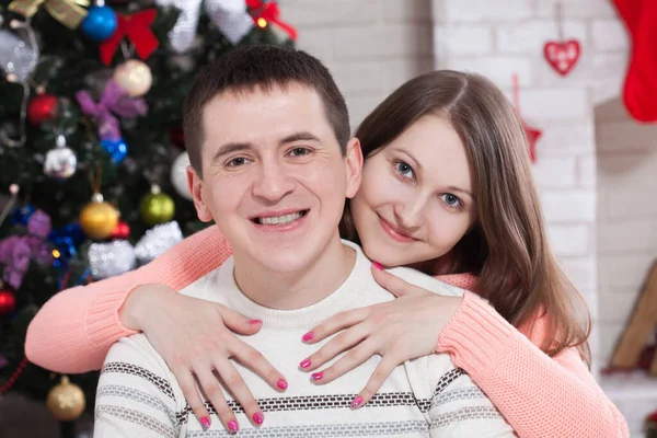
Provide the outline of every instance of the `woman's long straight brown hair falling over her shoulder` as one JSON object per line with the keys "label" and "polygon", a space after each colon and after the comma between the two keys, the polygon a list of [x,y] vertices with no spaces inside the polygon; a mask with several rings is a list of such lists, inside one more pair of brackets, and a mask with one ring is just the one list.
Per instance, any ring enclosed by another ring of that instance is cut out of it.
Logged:
{"label": "woman's long straight brown hair falling over her shoulder", "polygon": [[[554,337],[545,339],[543,351],[553,356],[578,347],[588,360],[590,316],[550,249],[528,140],[514,107],[482,76],[433,71],[403,84],[362,122],[355,136],[364,155],[425,115],[451,122],[473,174],[479,220],[450,253],[450,273],[476,274],[480,293],[516,327],[533,327],[546,314]],[[348,203],[341,231],[358,241]]]}

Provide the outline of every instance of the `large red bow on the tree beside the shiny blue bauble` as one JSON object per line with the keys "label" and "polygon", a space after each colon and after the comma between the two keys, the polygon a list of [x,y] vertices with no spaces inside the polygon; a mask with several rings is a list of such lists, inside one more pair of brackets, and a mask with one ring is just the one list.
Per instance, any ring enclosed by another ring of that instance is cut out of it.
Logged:
{"label": "large red bow on the tree beside the shiny blue bauble", "polygon": [[130,15],[116,14],[117,26],[114,35],[101,44],[101,60],[108,66],[114,58],[124,36],[127,36],[137,55],[141,59],[148,58],[160,45],[153,31],[149,27],[155,21],[157,10],[154,8],[146,9]]}

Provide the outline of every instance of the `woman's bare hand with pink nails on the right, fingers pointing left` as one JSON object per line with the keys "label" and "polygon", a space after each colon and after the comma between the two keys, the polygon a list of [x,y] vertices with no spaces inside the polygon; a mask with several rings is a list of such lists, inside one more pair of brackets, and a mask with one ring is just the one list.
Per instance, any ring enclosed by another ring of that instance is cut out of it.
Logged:
{"label": "woman's bare hand with pink nails on the right, fingers pointing left", "polygon": [[374,279],[397,297],[395,300],[338,313],[303,335],[303,342],[313,344],[342,332],[301,361],[307,371],[348,350],[331,367],[312,373],[318,384],[335,380],[376,354],[382,356],[353,407],[366,404],[397,365],[433,354],[442,327],[461,304],[461,297],[436,295],[374,266]]}

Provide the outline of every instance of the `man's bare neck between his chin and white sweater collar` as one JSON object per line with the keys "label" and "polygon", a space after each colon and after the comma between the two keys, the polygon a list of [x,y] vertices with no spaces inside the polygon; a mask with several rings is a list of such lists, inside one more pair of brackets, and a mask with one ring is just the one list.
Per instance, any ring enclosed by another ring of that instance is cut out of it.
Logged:
{"label": "man's bare neck between his chin and white sweater collar", "polygon": [[356,252],[334,239],[312,265],[286,274],[240,262],[235,258],[235,283],[252,301],[270,309],[301,309],[339,288],[354,268]]}

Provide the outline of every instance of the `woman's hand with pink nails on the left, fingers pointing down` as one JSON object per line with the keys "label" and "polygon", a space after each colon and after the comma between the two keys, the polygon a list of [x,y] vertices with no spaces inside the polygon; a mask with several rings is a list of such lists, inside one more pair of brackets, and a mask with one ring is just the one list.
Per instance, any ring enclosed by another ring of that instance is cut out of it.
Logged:
{"label": "woman's hand with pink nails on the left, fingers pointing down", "polygon": [[254,425],[260,426],[264,420],[255,397],[229,358],[251,368],[272,388],[278,391],[287,388],[283,374],[233,333],[252,335],[261,330],[261,321],[249,320],[221,304],[176,293],[164,285],[136,288],[124,303],[119,318],[126,327],[143,332],[166,361],[204,429],[210,426],[210,416],[195,378],[224,427],[232,433],[239,429],[216,374]]}

